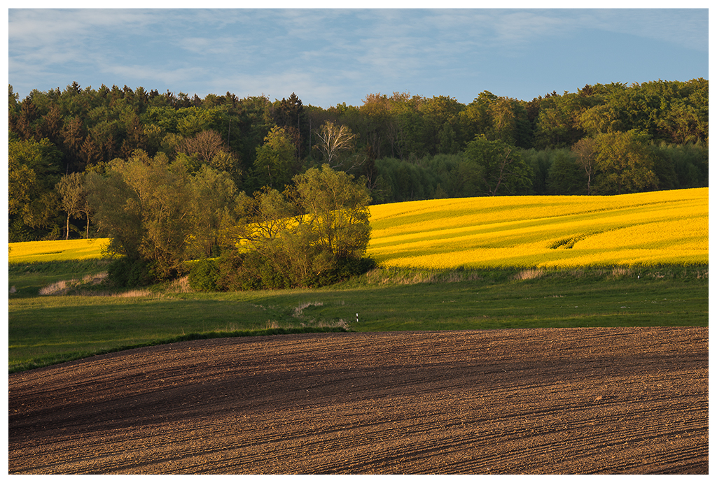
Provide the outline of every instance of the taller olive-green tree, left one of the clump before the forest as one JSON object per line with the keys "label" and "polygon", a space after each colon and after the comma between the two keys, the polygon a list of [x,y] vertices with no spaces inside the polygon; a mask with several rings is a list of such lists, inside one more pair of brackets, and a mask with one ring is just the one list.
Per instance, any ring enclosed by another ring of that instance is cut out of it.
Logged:
{"label": "taller olive-green tree, left one of the clump before the forest", "polygon": [[190,253],[211,254],[221,227],[234,220],[236,193],[227,173],[204,166],[191,176],[163,153],[150,158],[138,150],[87,181],[95,218],[112,238],[110,251],[151,264],[161,280],[176,276]]}

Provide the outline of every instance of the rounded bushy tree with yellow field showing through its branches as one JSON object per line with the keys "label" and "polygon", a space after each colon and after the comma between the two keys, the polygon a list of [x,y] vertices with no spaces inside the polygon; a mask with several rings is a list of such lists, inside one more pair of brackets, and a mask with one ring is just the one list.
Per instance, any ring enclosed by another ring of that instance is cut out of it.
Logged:
{"label": "rounded bushy tree with yellow field showing through its branches", "polygon": [[224,290],[319,286],[362,269],[371,226],[368,189],[328,165],[294,177],[284,193],[265,189],[246,200],[234,232],[240,253],[219,263]]}

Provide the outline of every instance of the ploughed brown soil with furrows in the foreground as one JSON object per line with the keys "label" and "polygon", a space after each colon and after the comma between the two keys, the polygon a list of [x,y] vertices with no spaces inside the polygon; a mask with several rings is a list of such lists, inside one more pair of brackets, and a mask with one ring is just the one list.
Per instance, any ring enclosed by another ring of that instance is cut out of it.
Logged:
{"label": "ploughed brown soil with furrows in the foreground", "polygon": [[708,473],[708,329],[174,343],[9,376],[10,473]]}

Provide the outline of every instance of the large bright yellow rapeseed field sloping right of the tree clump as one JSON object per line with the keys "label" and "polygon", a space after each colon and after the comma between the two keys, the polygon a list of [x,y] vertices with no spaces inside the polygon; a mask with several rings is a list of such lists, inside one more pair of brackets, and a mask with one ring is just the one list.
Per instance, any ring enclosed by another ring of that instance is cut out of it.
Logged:
{"label": "large bright yellow rapeseed field sloping right of the tree clump", "polygon": [[707,264],[708,205],[708,188],[374,205],[368,253],[437,269]]}

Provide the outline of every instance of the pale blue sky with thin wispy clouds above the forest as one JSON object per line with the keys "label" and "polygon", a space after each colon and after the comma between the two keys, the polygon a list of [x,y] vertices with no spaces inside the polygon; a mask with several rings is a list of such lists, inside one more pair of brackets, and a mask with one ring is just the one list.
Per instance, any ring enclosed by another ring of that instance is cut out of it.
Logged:
{"label": "pale blue sky with thin wispy clouds above the forest", "polygon": [[[359,5],[374,4],[392,5]],[[9,84],[21,99],[76,81],[199,97],[295,92],[325,108],[378,92],[467,104],[484,90],[530,100],[585,84],[708,79],[704,8],[10,9],[8,18]]]}

